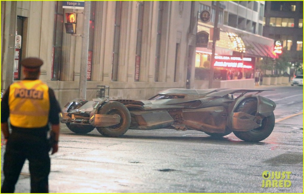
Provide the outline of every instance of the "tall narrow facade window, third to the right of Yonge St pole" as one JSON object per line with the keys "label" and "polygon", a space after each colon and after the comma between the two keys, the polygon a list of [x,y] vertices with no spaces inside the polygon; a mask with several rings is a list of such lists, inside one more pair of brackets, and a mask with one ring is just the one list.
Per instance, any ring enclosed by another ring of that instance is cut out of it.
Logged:
{"label": "tall narrow facade window, third to the right of Yonge St pole", "polygon": [[140,73],[140,56],[141,56],[141,40],[143,38],[143,4],[139,3],[138,7],[138,23],[137,23],[137,41],[136,41],[136,58],[135,58],[135,78],[139,81]]}

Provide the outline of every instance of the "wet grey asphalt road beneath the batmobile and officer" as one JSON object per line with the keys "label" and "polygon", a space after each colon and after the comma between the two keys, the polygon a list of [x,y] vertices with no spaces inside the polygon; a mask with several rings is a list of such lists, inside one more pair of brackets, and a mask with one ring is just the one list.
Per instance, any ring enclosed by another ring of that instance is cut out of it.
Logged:
{"label": "wet grey asphalt road beneath the batmobile and officer", "polygon": [[[59,152],[51,156],[50,192],[302,193],[303,87],[275,89],[261,93],[277,108],[274,131],[258,143],[233,133],[216,139],[172,129],[129,130],[120,138],[105,138],[96,130],[74,134],[62,124]],[[264,171],[277,177],[264,179]],[[283,172],[290,172],[289,179]],[[265,180],[275,187],[262,188]],[[27,163],[16,192],[29,192]]]}

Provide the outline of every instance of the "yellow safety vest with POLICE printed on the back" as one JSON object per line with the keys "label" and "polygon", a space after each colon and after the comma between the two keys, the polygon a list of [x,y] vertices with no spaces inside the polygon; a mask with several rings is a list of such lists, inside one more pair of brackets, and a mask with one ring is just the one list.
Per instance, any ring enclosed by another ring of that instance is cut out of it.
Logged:
{"label": "yellow safety vest with POLICE printed on the back", "polygon": [[22,80],[9,88],[10,122],[15,127],[40,128],[48,122],[49,87],[41,80]]}

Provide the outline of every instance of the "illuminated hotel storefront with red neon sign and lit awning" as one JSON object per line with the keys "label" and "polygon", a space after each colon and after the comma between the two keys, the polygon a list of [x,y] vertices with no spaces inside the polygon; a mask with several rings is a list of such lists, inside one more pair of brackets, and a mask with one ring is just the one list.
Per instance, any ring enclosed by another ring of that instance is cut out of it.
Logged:
{"label": "illuminated hotel storefront with red neon sign and lit awning", "polygon": [[[198,33],[209,34],[213,26],[198,22]],[[210,38],[209,38],[210,39]],[[206,41],[206,38],[204,39]],[[199,44],[197,40],[195,67],[198,79],[208,80],[212,50],[210,43]],[[220,38],[216,41],[214,80],[237,80],[253,78],[255,64],[263,57],[277,58],[280,46],[274,40],[220,25]],[[276,50],[275,50],[276,49]],[[198,74],[204,74],[200,76]]]}

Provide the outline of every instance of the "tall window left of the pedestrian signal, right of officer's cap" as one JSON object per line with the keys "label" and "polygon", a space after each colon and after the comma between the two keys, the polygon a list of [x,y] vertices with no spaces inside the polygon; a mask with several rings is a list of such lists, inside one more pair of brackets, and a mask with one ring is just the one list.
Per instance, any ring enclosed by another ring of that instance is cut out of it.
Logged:
{"label": "tall window left of the pedestrian signal, right of officer's cap", "polygon": [[63,8],[61,1],[55,1],[54,31],[52,48],[51,80],[60,80],[63,33]]}

